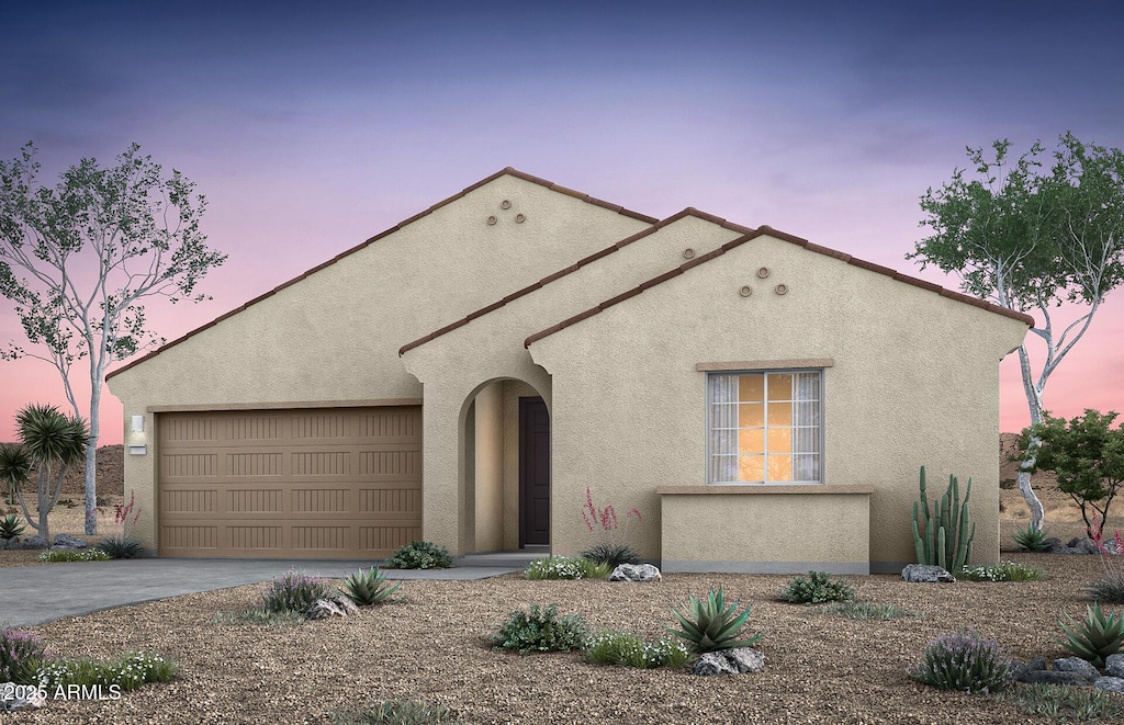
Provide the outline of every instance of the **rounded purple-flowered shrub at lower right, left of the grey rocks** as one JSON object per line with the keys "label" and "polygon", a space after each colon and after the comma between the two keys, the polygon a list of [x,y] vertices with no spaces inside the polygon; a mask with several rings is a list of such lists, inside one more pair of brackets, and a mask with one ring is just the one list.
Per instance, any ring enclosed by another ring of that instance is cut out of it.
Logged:
{"label": "rounded purple-flowered shrub at lower right, left of the grey rocks", "polygon": [[1006,688],[1012,666],[1010,658],[995,640],[985,639],[975,630],[962,630],[942,634],[925,645],[909,676],[941,689],[978,695]]}

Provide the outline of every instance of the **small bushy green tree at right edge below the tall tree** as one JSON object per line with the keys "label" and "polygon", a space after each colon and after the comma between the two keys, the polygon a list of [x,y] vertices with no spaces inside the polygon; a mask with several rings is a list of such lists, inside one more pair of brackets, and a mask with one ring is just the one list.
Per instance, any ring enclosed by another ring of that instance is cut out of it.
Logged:
{"label": "small bushy green tree at right edge below the tall tree", "polygon": [[1023,449],[1032,440],[1039,441],[1034,470],[1058,475],[1058,488],[1081,507],[1086,526],[1093,526],[1089,508],[1102,524],[1108,520],[1108,507],[1124,485],[1124,428],[1109,428],[1116,415],[1086,410],[1068,423],[1046,415],[1041,423],[1024,429],[1019,439]]}

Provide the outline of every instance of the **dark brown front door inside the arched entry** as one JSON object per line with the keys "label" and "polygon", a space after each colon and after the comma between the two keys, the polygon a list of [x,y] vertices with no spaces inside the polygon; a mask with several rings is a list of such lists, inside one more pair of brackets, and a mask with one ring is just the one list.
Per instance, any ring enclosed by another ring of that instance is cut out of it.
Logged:
{"label": "dark brown front door inside the arched entry", "polygon": [[519,547],[551,543],[551,419],[541,397],[519,398]]}

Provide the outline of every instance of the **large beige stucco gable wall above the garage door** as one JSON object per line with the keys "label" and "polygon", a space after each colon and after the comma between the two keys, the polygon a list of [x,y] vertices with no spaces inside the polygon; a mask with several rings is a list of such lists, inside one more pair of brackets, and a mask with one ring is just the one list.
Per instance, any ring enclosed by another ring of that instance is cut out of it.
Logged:
{"label": "large beige stucco gable wall above the garage door", "polygon": [[[148,453],[125,461],[142,512],[136,534],[155,548],[152,409],[418,401],[422,385],[402,368],[400,346],[646,227],[500,176],[110,378],[125,420],[148,416]],[[434,433],[426,431],[427,456],[454,447],[455,434]],[[447,541],[450,532],[424,534]]]}

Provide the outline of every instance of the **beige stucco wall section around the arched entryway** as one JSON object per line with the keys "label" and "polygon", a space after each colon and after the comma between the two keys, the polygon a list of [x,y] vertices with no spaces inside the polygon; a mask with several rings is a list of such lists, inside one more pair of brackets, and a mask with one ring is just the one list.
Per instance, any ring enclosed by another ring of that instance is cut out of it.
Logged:
{"label": "beige stucco wall section around the arched entryway", "polygon": [[[451,550],[456,545],[459,552],[469,545],[459,524],[464,521],[465,506],[471,506],[463,501],[464,484],[471,478],[463,450],[463,420],[480,386],[496,378],[523,380],[542,395],[550,409],[550,376],[524,348],[527,336],[682,264],[687,248],[703,255],[740,236],[711,221],[685,217],[469,324],[407,350],[402,364],[425,386],[425,440],[462,441],[456,448],[427,444],[423,462],[426,536],[434,536],[434,541]],[[456,501],[461,501],[459,507],[451,503]],[[552,504],[558,501],[553,498]],[[580,522],[581,499],[561,501],[552,508],[565,511]],[[510,544],[511,539],[505,535],[505,545]]]}

